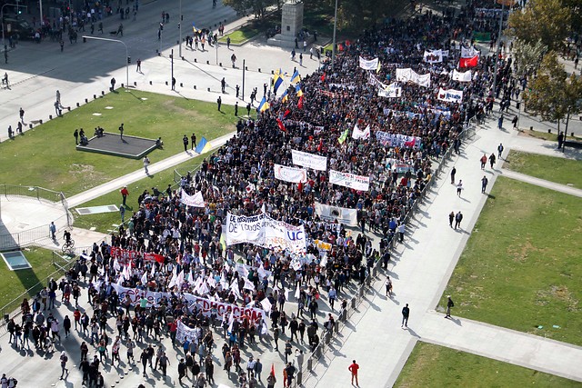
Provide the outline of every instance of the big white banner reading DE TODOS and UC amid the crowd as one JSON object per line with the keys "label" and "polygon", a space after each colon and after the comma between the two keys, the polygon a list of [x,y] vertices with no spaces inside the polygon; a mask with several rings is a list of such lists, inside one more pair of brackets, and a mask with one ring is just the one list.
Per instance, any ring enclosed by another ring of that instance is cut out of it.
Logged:
{"label": "big white banner reading DE TODOS and UC amid the crowd", "polygon": [[266,214],[250,217],[226,214],[226,245],[250,243],[269,249],[306,252],[305,227],[277,221]]}

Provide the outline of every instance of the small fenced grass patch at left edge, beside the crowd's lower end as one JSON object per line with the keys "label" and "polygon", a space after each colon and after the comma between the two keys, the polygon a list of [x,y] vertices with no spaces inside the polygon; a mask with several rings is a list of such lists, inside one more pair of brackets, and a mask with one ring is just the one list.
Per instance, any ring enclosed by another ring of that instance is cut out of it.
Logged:
{"label": "small fenced grass patch at left edge, beside the crowd's lower end", "polygon": [[[0,282],[0,307],[12,302],[18,295],[39,282],[46,285],[46,277],[56,271],[55,266],[52,264],[52,251],[31,246],[24,248],[23,252],[28,263],[32,265],[32,269],[10,271],[4,260],[0,261],[0,278],[2,279],[2,282]],[[60,277],[60,274],[56,274],[55,278],[57,277]],[[30,296],[34,296],[41,288],[42,286],[40,285],[35,287],[31,290]],[[11,304],[11,307],[7,308],[8,311],[4,313],[12,313],[12,310],[20,306],[20,303],[22,301],[16,301]]]}

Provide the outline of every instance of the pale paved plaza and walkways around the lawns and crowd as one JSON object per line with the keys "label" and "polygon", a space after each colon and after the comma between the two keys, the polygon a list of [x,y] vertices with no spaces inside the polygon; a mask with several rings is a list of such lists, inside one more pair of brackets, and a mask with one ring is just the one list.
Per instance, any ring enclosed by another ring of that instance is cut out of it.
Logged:
{"label": "pale paved plaza and walkways around the lawns and crowd", "polygon": [[[199,28],[215,25],[226,19],[226,31],[228,31],[243,22],[236,19],[234,11],[229,8],[222,6],[216,9],[211,8],[211,2],[196,3],[196,5],[184,3],[185,15],[186,13],[196,15],[196,24],[199,22]],[[220,45],[217,51],[214,47],[210,49],[206,47],[206,52],[193,52],[186,50],[183,46],[183,56],[186,60],[182,61],[177,58],[178,48],[174,45],[177,38],[176,30],[171,28],[167,29],[168,34],[164,36],[161,44],[162,55],[158,56],[156,49],[159,48],[160,43],[156,39],[156,25],[152,20],[157,20],[163,8],[171,15],[177,15],[177,2],[171,2],[171,4],[169,7],[164,2],[155,1],[143,5],[137,20],[126,23],[123,39],[131,45],[131,56],[134,59],[134,63],[129,68],[129,84],[136,83],[136,88],[139,90],[215,102],[216,97],[221,95],[219,93],[220,80],[224,77],[227,88],[226,94],[222,95],[223,103],[235,104],[235,86],[242,86],[243,81],[243,59],[246,60],[248,67],[245,73],[245,101],[248,101],[252,88],[257,87],[261,90],[262,85],[269,82],[271,70],[282,68],[291,73],[293,68],[297,67],[302,75],[307,75],[315,71],[319,65],[316,60],[310,60],[306,55],[303,66],[300,66],[289,59],[289,53],[286,50],[266,46],[262,40],[242,47],[233,46],[231,50],[227,49],[226,45]],[[108,31],[117,24],[116,19],[106,21],[104,29]],[[12,84],[10,90],[0,91],[0,99],[3,101],[3,104],[0,104],[0,141],[6,140],[5,128],[9,124],[15,126],[20,106],[25,108],[27,123],[41,119],[46,121],[49,114],[55,114],[53,104],[56,90],[60,91],[64,105],[74,107],[76,103],[84,104],[85,98],[90,101],[93,95],[100,95],[101,91],[107,91],[112,77],[115,77],[118,84],[125,83],[125,50],[122,53],[122,49],[121,46],[115,49],[105,48],[105,45],[96,42],[84,44],[79,39],[76,45],[67,43],[65,51],[60,53],[55,43],[46,42],[41,45],[21,43],[15,51],[11,52],[9,65],[3,65],[0,68],[3,74],[5,71],[9,73]],[[166,82],[170,81],[169,55],[172,49],[176,58],[174,71],[177,84],[183,85],[177,87],[176,91],[172,91],[171,87],[166,85]],[[100,55],[103,52],[111,53],[111,55]],[[236,69],[230,66],[229,58],[233,52],[238,58]],[[137,58],[143,61],[143,73],[135,71]],[[209,65],[206,65],[206,61]],[[216,62],[222,62],[224,66],[216,65]],[[259,68],[261,72],[258,71]],[[525,116],[522,118],[524,125],[536,123],[535,119]],[[506,123],[503,129],[497,129],[497,116],[494,114],[486,124],[477,126],[474,136],[464,142],[461,154],[447,162],[443,174],[437,179],[411,224],[407,225],[408,233],[404,244],[397,245],[396,252],[393,254],[394,261],[389,265],[388,271],[376,277],[372,290],[366,293],[364,301],[358,306],[358,312],[350,317],[341,334],[333,340],[331,348],[322,356],[321,362],[314,364],[314,373],[307,372],[304,364],[303,380],[306,386],[349,386],[350,374],[347,367],[352,359],[356,359],[361,367],[360,386],[392,386],[417,341],[437,343],[582,382],[582,368],[579,367],[582,363],[582,348],[579,346],[455,316],[446,320],[442,318],[442,313],[434,311],[457,260],[467,244],[470,231],[487,200],[487,195],[481,194],[480,190],[480,179],[484,174],[478,164],[480,156],[484,153],[497,153],[497,144],[502,143],[505,146],[504,157],[509,150],[514,149],[582,159],[582,154],[577,150],[567,149],[565,153],[562,153],[556,150],[555,143],[521,136],[510,128],[509,120]],[[573,128],[578,131],[579,125],[574,124]],[[71,136],[68,133],[55,135]],[[213,148],[225,144],[232,135],[227,134],[212,140]],[[179,142],[180,139],[176,141]],[[149,172],[156,174],[195,156],[195,153],[180,153],[162,161],[153,161]],[[466,185],[462,197],[455,194],[455,187],[448,182],[448,173],[453,165],[457,168],[457,177]],[[489,179],[489,190],[495,184],[497,176],[504,175],[562,193],[582,196],[582,191],[579,189],[507,171],[503,168],[503,160],[499,161],[493,169],[487,168],[485,174]],[[68,204],[71,208],[85,204],[145,176],[142,169],[136,170],[84,193],[69,197]],[[10,232],[17,231],[17,225],[22,224],[24,218],[35,218],[37,224],[48,224],[57,216],[62,218],[62,209],[55,208],[51,204],[29,199],[20,200],[22,203],[18,201],[18,198],[10,198],[9,205],[5,206],[3,200],[2,221]],[[25,215],[21,213],[20,206],[25,206],[27,212]],[[461,211],[465,214],[464,223],[458,231],[450,229],[447,225],[447,214],[451,211]],[[77,246],[90,246],[94,242],[98,243],[108,238],[105,234],[78,228],[74,228],[72,234]],[[369,234],[369,237],[373,239],[376,247],[378,236]],[[51,249],[56,248],[55,244],[48,239],[43,241],[42,245]],[[384,296],[386,274],[390,275],[394,283],[394,295],[391,298]],[[351,287],[341,297],[349,299],[356,292],[356,287]],[[59,299],[60,293],[57,297],[57,300]],[[85,289],[80,301],[82,309],[91,311],[92,308],[86,303]],[[411,308],[407,330],[400,327],[400,311],[405,303],[409,303]],[[326,298],[321,304],[323,304],[320,308],[322,317],[332,312],[326,304]],[[51,312],[62,322],[65,315],[72,318],[73,310],[70,305],[57,303],[57,308]],[[286,312],[289,315],[291,312],[296,312],[296,302],[292,293],[290,303],[286,303]],[[113,335],[114,329],[109,328],[109,336]],[[221,330],[215,332],[217,349],[224,341],[221,333]],[[0,373],[17,377],[19,386],[22,387],[81,386],[82,375],[76,366],[80,358],[79,346],[83,341],[87,341],[87,337],[75,330],[68,338],[65,338],[64,333],[61,333],[61,337],[62,341],[56,344],[55,352],[45,353],[36,352],[34,345],[31,349],[15,351],[8,343],[8,335],[2,335],[0,337],[2,347]],[[285,335],[282,336],[279,349],[284,347],[283,341],[286,338]],[[173,348],[166,336],[161,342],[146,339],[145,343],[164,346],[168,350],[170,358],[168,377],[163,378],[159,371],[154,372],[147,368],[147,376],[144,378],[141,364],[135,366],[126,363],[125,348],[122,346],[122,363],[119,366],[106,363],[102,368],[105,372],[105,386],[136,387],[139,383],[145,383],[146,386],[180,385],[177,380],[177,363],[184,354],[181,347],[178,345]],[[294,343],[294,348],[308,352],[306,344],[303,343]],[[95,349],[93,346],[89,349],[89,354],[92,356]],[[70,360],[68,366],[70,373],[64,381],[59,380],[58,356],[61,351],[66,351]],[[135,355],[138,356],[139,353],[136,349]],[[219,351],[215,350],[214,354],[215,356],[218,354],[215,359],[216,383],[228,387],[236,386],[234,380],[228,379],[226,372],[222,370],[223,360]],[[243,365],[250,355],[253,355],[255,359],[260,358],[264,364],[263,382],[266,381],[271,364],[274,364],[278,381],[276,387],[283,386],[281,371],[285,357],[282,352],[274,349],[269,336],[266,336],[258,345],[251,344],[245,347],[242,352]],[[190,380],[185,379],[186,382]],[[191,383],[187,385],[190,386]]]}

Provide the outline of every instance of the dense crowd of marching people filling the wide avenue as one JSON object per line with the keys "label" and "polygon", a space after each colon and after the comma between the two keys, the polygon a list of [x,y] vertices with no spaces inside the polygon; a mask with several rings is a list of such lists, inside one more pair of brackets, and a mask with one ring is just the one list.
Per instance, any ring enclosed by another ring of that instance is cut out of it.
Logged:
{"label": "dense crowd of marching people filling the wide avenue", "polygon": [[[458,150],[465,124],[486,114],[487,104],[492,104],[495,58],[480,56],[470,69],[473,82],[454,81],[451,72],[457,68],[461,48],[472,47],[476,28],[495,29],[475,14],[475,8],[493,6],[492,1],[469,1],[460,13],[447,10],[444,17],[429,11],[391,20],[341,45],[333,67],[326,62],[318,73],[285,85],[289,86],[285,99],[284,87],[279,96],[270,93],[266,98],[270,107],[259,111],[256,119],[241,120],[236,135],[196,172],[184,176],[177,188],[168,185],[165,192],[139,195],[138,210],[112,234],[110,244],[94,244],[61,284],[51,282],[31,305],[25,301],[23,322],[9,326],[16,346],[24,345],[23,333],[25,341],[32,336],[37,347],[45,346],[47,337],[60,340],[58,321],[50,315],[45,319],[43,313],[60,289],[64,303],[76,304],[84,293],[93,306],[85,313],[77,309],[73,316],[75,329],[86,340],[81,345],[81,369],[89,386],[103,386],[99,363],[119,363],[122,347],[128,363],[135,363],[137,353],[144,374],[149,364],[151,369],[159,365],[166,375],[166,350],[160,346],[156,352],[144,342],[166,334],[183,349],[177,365],[180,382],[191,373],[193,386],[214,383],[212,354],[219,349],[217,339],[223,338],[218,357],[222,369],[240,386],[249,387],[261,379],[263,366],[252,357],[243,360],[241,349],[252,344],[278,350],[278,340],[285,341],[284,383],[292,383],[303,367],[304,333],[309,345],[305,350],[312,351],[321,333],[334,330],[335,313],[346,308],[345,288],[362,284],[377,260],[387,262],[390,240],[398,231],[404,234],[398,228],[441,156],[448,148]],[[437,49],[447,51],[443,62],[423,61],[426,50]],[[380,65],[376,71],[363,70],[359,57],[377,57]],[[500,64],[500,92],[511,94],[510,62]],[[377,81],[395,83],[396,68],[429,73],[431,85],[399,83],[399,96],[378,96]],[[462,90],[462,101],[440,101],[441,88]],[[358,139],[349,135],[356,125],[369,130],[368,135]],[[419,140],[386,144],[378,140],[378,132]],[[330,184],[327,171],[308,170],[306,182],[299,184],[277,180],[273,166],[293,165],[292,150],[326,156],[329,169],[368,176],[369,190]],[[186,206],[182,191],[200,192],[206,206]],[[356,209],[357,229],[323,220],[316,203]],[[226,246],[223,225],[228,213],[266,213],[287,224],[303,225],[306,252]],[[120,295],[119,290],[134,291]],[[151,299],[148,293],[158,296]],[[234,316],[214,305],[203,308],[192,303],[186,294],[265,313]],[[334,313],[320,312],[324,300]],[[336,300],[341,301],[338,306]],[[68,316],[66,320],[70,330]],[[108,327],[116,328],[115,338],[108,336]],[[186,335],[179,335],[185,330],[180,327],[187,328]],[[293,344],[301,344],[296,356]],[[98,353],[93,359],[87,356],[89,348]],[[269,375],[267,383],[275,381],[276,376]]]}

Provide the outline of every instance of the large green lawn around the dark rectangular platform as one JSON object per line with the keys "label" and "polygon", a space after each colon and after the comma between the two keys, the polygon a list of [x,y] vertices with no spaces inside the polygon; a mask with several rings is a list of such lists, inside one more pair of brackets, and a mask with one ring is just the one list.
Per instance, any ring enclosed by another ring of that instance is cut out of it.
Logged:
{"label": "large green lawn around the dark rectangular platform", "polygon": [[82,127],[91,136],[97,125],[117,133],[119,124],[124,123],[127,135],[152,139],[162,136],[164,149],[149,154],[156,163],[184,150],[184,134],[194,132],[198,140],[202,136],[210,140],[233,131],[236,118],[228,114],[231,108],[224,106],[223,114],[212,103],[119,89],[0,144],[0,183],[38,185],[66,196],[78,194],[140,169],[143,164],[140,160],[76,151],[75,128]]}

